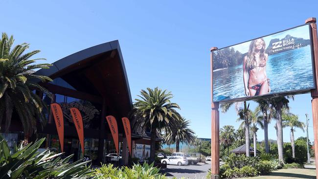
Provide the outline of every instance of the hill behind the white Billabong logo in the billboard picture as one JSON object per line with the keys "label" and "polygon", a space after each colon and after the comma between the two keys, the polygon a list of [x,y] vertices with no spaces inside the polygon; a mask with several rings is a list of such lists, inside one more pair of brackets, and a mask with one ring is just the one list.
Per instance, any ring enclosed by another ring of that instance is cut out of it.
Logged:
{"label": "hill behind the white Billabong logo in the billboard picture", "polygon": [[265,52],[269,55],[292,50],[310,45],[309,39],[297,38],[291,35],[286,35],[283,39],[272,39],[267,46]]}

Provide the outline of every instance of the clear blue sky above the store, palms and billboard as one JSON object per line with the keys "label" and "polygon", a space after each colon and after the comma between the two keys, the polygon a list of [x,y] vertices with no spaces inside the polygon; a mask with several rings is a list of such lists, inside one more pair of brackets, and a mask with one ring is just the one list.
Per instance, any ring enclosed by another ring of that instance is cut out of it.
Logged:
{"label": "clear blue sky above the store, palms and billboard", "polygon": [[[49,63],[119,40],[133,99],[147,87],[172,91],[172,102],[203,138],[211,135],[210,47],[238,44],[318,17],[317,0],[1,0],[0,6],[0,30],[14,35],[16,43],[30,43],[30,50],[42,50],[38,57]],[[305,113],[312,117],[310,94],[296,95],[290,106],[300,120]],[[220,127],[238,128],[236,119],[233,108],[220,113]],[[273,123],[271,139],[276,138]],[[295,137],[301,135],[297,130]],[[258,139],[263,138],[260,130]],[[290,141],[289,129],[284,141]]]}

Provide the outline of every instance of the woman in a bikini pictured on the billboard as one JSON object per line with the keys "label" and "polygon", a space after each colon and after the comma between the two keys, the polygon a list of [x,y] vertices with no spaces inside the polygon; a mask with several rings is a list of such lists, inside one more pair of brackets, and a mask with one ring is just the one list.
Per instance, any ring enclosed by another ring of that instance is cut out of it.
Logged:
{"label": "woman in a bikini pictured on the billboard", "polygon": [[250,43],[249,53],[243,60],[243,82],[245,94],[256,96],[271,92],[270,79],[266,75],[268,54],[265,53],[263,38]]}

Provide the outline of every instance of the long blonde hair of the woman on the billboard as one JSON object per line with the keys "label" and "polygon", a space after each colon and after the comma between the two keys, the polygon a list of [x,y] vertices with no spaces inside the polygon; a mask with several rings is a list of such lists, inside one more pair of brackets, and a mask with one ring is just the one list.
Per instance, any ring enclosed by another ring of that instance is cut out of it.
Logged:
{"label": "long blonde hair of the woman on the billboard", "polygon": [[[256,65],[257,65],[256,59],[255,59],[255,54],[256,54],[256,52],[255,52],[255,42],[257,40],[259,40],[259,39],[255,39],[255,40],[252,40],[252,42],[250,42],[249,53],[247,55],[248,58],[247,58],[247,61],[246,61],[246,68],[249,69],[249,70],[255,68]],[[261,61],[261,64],[264,65],[264,63],[266,63],[266,57],[265,57],[265,46],[266,46],[266,44],[265,44],[265,41],[264,41],[263,38],[260,38],[260,40],[262,40],[264,44],[263,44],[262,49],[259,52],[259,59]]]}

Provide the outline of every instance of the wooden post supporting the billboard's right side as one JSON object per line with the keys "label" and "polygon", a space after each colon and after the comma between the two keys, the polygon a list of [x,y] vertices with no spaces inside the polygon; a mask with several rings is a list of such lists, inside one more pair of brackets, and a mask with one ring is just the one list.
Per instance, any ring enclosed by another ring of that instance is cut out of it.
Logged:
{"label": "wooden post supporting the billboard's right side", "polygon": [[313,125],[314,125],[314,141],[315,141],[315,160],[316,160],[316,176],[318,176],[318,37],[316,18],[308,18],[305,23],[310,23],[312,33],[312,49],[314,55],[314,75],[316,89],[311,90],[311,101],[313,111]]}

